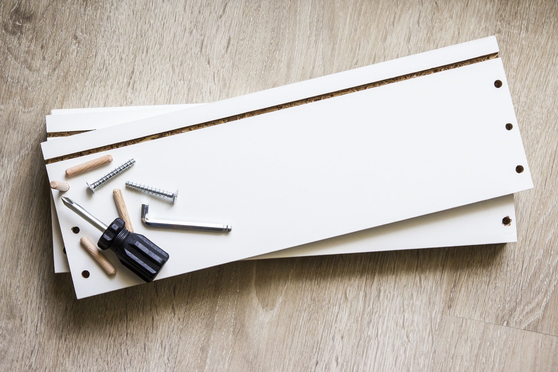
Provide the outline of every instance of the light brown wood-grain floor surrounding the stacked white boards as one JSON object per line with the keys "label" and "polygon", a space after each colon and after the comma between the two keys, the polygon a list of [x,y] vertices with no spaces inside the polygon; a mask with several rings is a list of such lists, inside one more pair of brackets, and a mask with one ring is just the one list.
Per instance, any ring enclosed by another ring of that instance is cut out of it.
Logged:
{"label": "light brown wood-grain floor surrounding the stacked white boards", "polygon": [[[558,368],[558,6],[0,2],[0,369]],[[535,189],[516,244],[237,262],[77,301],[54,274],[53,108],[213,102],[497,35]]]}

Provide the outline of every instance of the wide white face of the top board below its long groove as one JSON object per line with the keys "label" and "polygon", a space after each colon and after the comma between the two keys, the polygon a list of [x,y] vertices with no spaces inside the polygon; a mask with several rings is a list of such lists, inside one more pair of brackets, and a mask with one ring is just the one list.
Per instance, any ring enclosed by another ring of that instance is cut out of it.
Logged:
{"label": "wide white face of the top board below its long groove", "polygon": [[[508,122],[516,118],[501,60],[494,59],[113,149],[116,162],[137,160],[126,176],[94,196],[85,187],[65,195],[108,223],[117,215],[112,188],[149,177],[188,193],[174,206],[128,193],[128,205],[150,200],[153,218],[233,225],[229,234],[211,234],[136,223],[170,254],[161,279],[529,189],[521,137],[506,131]],[[101,136],[103,129],[75,137],[89,146]],[[49,142],[59,154],[84,149],[63,140]],[[49,178],[102,154],[49,164]],[[517,173],[517,165],[525,171]],[[81,277],[91,260],[71,226],[98,233],[53,196],[77,296],[139,284],[118,263],[113,278]]]}

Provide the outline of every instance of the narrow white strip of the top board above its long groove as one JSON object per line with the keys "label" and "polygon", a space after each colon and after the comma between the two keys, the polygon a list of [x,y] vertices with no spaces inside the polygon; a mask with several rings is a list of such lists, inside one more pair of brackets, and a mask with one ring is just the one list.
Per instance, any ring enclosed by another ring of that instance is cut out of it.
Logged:
{"label": "narrow white strip of the top board above its long groove", "polygon": [[[227,118],[253,110],[353,88],[354,86],[373,83],[374,81],[413,74],[417,71],[494,54],[498,51],[496,37],[485,37],[358,69],[322,76],[321,78],[279,86],[216,103],[209,103],[195,108],[177,110],[173,113],[164,114],[160,118],[152,117],[119,124],[122,129],[121,131],[113,131],[112,128],[98,129],[102,135],[96,137],[60,138],[60,142],[55,146],[49,146],[49,143],[46,142],[43,143],[42,152],[45,159],[55,158],[80,152],[84,149],[126,142],[131,138],[151,136],[155,133],[206,123],[215,119]],[[153,125],[154,122],[157,123],[156,126]]]}

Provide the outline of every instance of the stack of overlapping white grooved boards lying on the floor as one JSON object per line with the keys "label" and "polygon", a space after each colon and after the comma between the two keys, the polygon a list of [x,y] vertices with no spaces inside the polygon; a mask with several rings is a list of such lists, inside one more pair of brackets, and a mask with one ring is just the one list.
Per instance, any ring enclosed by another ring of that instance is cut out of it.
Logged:
{"label": "stack of overlapping white grooved boards lying on the floor", "polygon": [[[49,181],[71,185],[52,190],[55,272],[71,272],[78,298],[143,283],[110,251],[108,276],[80,246],[99,232],[61,201],[108,223],[116,187],[134,230],[170,254],[156,279],[241,259],[516,241],[513,193],[533,186],[498,52],[487,37],[215,103],[52,110]],[[114,162],[65,177],[104,154]],[[92,194],[86,182],[129,158]],[[142,204],[233,230],[153,228]]]}

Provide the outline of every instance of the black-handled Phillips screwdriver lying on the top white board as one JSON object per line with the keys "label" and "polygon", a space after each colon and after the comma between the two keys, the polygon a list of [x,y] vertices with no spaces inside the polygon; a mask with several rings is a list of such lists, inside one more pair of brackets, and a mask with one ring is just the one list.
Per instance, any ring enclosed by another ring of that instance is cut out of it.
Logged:
{"label": "black-handled Phillips screwdriver lying on the top white board", "polygon": [[124,227],[124,221],[121,219],[117,218],[107,226],[69,197],[62,197],[62,201],[69,209],[103,232],[97,242],[100,249],[112,250],[124,266],[144,281],[153,281],[169,260],[168,253],[145,236],[131,233]]}

